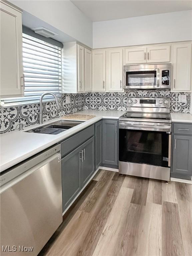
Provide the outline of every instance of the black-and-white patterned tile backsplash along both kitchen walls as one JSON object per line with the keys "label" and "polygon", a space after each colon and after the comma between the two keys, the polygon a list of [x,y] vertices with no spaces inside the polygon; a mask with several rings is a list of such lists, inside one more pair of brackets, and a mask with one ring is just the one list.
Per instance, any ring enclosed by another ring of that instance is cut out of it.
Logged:
{"label": "black-and-white patterned tile backsplash along both kitchen walls", "polygon": [[[186,94],[187,102],[179,102],[179,95]],[[70,96],[70,104],[65,103],[65,97]],[[169,90],[134,90],[124,93],[90,92],[79,94],[63,94],[60,100],[60,108],[55,102],[43,103],[44,120],[54,119],[59,116],[75,113],[81,110],[119,110],[126,111],[127,98],[170,98],[171,112],[190,113],[191,94],[185,92],[170,92]],[[0,133],[18,129],[19,123],[26,125],[36,124],[39,119],[39,104],[22,105],[15,107],[1,107],[0,109]]]}

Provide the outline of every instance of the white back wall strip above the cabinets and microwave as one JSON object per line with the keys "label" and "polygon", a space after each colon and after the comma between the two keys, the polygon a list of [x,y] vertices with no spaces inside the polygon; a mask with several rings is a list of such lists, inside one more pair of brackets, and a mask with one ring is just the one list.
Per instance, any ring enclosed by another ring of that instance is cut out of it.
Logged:
{"label": "white back wall strip above the cabinets and microwave", "polygon": [[93,48],[192,40],[192,11],[93,22]]}

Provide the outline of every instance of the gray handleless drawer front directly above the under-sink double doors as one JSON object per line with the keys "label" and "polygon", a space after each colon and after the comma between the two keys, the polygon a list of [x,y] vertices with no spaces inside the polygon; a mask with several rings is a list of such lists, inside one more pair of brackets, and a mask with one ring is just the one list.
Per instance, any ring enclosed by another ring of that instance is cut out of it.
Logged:
{"label": "gray handleless drawer front directly above the under-sink double doors", "polygon": [[61,156],[65,156],[70,151],[81,145],[84,141],[88,140],[90,137],[94,136],[95,129],[94,125],[84,129],[81,132],[73,135],[72,137],[61,142]]}

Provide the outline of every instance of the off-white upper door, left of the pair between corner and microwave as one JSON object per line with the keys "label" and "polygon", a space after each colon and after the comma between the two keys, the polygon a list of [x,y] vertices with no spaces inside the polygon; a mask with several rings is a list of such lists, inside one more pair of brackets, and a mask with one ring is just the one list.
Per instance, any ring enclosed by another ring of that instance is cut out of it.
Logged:
{"label": "off-white upper door, left of the pair between corner and microwave", "polygon": [[106,86],[106,51],[93,51],[93,91],[103,92]]}

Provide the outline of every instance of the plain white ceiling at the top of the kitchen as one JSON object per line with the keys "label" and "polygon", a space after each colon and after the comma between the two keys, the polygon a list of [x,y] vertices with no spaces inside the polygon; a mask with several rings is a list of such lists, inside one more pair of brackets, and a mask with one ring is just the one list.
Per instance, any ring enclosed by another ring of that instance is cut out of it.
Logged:
{"label": "plain white ceiling at the top of the kitchen", "polygon": [[71,2],[93,22],[192,9],[192,0],[74,0]]}

